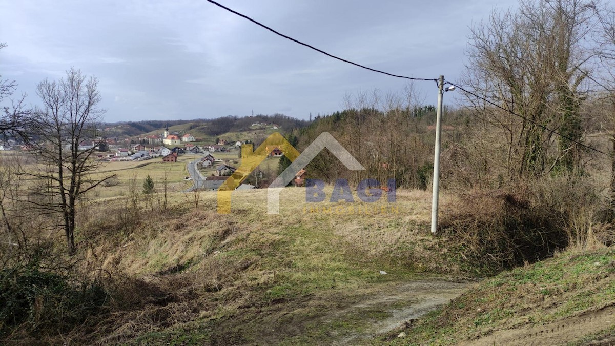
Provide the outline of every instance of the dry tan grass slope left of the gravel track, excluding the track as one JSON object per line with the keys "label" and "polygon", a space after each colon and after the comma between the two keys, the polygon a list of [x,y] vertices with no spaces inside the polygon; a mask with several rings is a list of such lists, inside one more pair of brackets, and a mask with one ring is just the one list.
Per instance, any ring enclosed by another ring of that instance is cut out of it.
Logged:
{"label": "dry tan grass slope left of the gravel track, excluding the track", "polygon": [[235,191],[229,215],[216,213],[213,192],[202,193],[198,210],[173,193],[167,212],[143,210],[131,225],[118,216],[127,198],[82,215],[81,253],[109,273],[114,300],[96,331],[76,331],[74,340],[119,343],[204,321],[230,332],[248,328],[238,324],[248,316],[277,316],[269,307],[292,310],[293,302],[331,294],[348,299],[413,272],[459,273],[429,235],[424,191],[399,191],[399,212],[354,215],[305,212],[303,188],[283,189],[280,214],[268,215],[266,195]]}

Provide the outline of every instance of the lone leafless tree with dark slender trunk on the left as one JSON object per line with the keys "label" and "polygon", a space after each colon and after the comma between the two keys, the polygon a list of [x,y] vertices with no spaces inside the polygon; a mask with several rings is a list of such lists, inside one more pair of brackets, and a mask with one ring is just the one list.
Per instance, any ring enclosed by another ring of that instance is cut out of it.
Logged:
{"label": "lone leafless tree with dark slender trunk on the left", "polygon": [[61,215],[68,253],[74,254],[74,231],[77,204],[98,186],[114,182],[114,174],[97,174],[100,160],[95,153],[105,139],[97,124],[104,111],[98,108],[101,97],[98,80],[87,78],[71,68],[60,81],[45,80],[38,84],[42,106],[33,113],[31,152],[39,169],[28,170],[42,184],[43,201],[31,201],[34,209]]}

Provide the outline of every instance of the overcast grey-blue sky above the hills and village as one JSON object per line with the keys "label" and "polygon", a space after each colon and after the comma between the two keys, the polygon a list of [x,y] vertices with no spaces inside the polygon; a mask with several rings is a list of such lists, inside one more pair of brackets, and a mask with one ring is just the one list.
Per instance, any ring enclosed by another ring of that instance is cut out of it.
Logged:
{"label": "overcast grey-blue sky above the hills and village", "polygon": [[[219,0],[333,55],[419,78],[459,78],[469,26],[516,1]],[[280,38],[205,0],[0,0],[2,78],[36,83],[74,66],[100,79],[106,121],[343,108],[346,94],[407,82]],[[435,104],[434,82],[416,82]],[[446,94],[448,102],[453,95]]]}

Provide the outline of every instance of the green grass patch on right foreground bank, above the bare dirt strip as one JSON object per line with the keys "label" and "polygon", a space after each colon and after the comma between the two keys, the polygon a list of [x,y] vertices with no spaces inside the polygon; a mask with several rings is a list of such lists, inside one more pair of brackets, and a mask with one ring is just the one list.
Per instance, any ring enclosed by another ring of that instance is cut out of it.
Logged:
{"label": "green grass patch on right foreground bank, above the bare dirt strip", "polygon": [[407,338],[391,334],[376,343],[453,345],[494,329],[531,327],[595,310],[615,303],[614,271],[613,249],[565,252],[489,278],[405,329]]}

